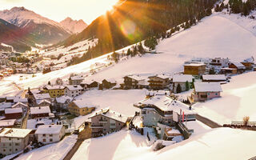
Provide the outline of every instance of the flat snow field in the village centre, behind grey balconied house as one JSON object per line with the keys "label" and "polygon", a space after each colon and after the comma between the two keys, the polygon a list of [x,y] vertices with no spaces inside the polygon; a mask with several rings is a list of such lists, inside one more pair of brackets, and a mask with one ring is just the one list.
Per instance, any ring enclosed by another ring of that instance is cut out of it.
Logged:
{"label": "flat snow field in the village centre, behind grey balconied house", "polygon": [[[135,111],[139,111],[138,108],[134,107],[134,103],[145,97],[146,90],[90,90],[76,99],[82,99],[85,104],[97,106],[96,110],[109,107],[110,110],[132,117]],[[92,114],[75,118],[74,126],[81,126],[82,122],[87,121]]]}

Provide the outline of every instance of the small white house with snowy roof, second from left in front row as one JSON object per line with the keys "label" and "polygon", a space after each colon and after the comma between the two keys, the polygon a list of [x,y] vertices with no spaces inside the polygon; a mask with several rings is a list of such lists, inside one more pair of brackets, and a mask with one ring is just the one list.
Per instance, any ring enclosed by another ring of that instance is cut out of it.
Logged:
{"label": "small white house with snowy roof, second from left in front row", "polygon": [[65,127],[63,125],[42,125],[38,126],[34,134],[38,142],[43,144],[58,142],[65,135]]}

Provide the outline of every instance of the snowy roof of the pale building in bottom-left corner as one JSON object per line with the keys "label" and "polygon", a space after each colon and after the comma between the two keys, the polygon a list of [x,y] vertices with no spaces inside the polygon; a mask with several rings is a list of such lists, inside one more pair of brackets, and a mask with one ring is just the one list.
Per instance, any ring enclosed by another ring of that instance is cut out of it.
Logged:
{"label": "snowy roof of the pale building in bottom-left corner", "polygon": [[3,128],[0,130],[0,137],[25,138],[32,130],[18,128]]}

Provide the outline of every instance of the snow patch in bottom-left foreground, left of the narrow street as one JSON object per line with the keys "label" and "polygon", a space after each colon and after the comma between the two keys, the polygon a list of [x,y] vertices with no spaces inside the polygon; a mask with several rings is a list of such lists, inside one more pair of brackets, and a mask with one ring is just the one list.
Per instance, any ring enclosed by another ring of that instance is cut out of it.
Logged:
{"label": "snow patch in bottom-left foreground, left of the narrow street", "polygon": [[40,159],[40,160],[62,160],[65,158],[66,154],[71,150],[71,148],[74,146],[74,143],[77,142],[77,135],[70,135],[64,139],[62,139],[61,142],[57,142],[54,144],[42,146],[41,148],[32,150],[28,152],[27,154],[22,154],[17,160],[34,160],[34,159]]}

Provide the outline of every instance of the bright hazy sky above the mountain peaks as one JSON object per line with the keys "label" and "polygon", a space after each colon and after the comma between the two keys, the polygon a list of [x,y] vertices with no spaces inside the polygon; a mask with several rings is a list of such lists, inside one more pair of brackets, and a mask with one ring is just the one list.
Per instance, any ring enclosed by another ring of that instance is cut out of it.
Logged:
{"label": "bright hazy sky above the mountain peaks", "polygon": [[0,0],[0,10],[24,6],[46,18],[60,22],[66,17],[82,19],[90,24],[105,14],[118,0]]}

